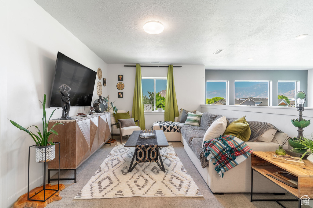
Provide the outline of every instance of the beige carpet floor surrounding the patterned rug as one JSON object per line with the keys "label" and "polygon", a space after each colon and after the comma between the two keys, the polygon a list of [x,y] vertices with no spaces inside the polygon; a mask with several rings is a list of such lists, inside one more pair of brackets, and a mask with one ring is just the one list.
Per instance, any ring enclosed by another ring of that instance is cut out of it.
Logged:
{"label": "beige carpet floor surrounding the patterned rug", "polygon": [[[123,139],[126,142],[125,139]],[[54,201],[47,205],[47,208],[102,208],[102,207],[205,207],[205,208],[280,208],[276,202],[273,201],[255,201],[250,202],[250,194],[224,194],[213,195],[208,185],[203,181],[203,178],[193,166],[187,153],[184,150],[184,146],[180,142],[173,142],[175,152],[180,158],[183,166],[187,172],[191,175],[193,180],[198,185],[203,197],[125,197],[118,199],[85,199],[75,200],[74,197],[85,186],[93,174],[97,171],[98,167],[104,161],[108,153],[113,149],[115,144],[104,145],[94,155],[92,155],[87,161],[85,161],[77,169],[77,183],[72,181],[62,181],[66,188],[61,191],[63,197],[60,201]],[[73,171],[72,171],[73,172]],[[61,177],[73,177],[72,172],[61,172]],[[55,182],[53,182],[55,183]],[[229,184],[231,186],[231,184]],[[289,194],[285,196],[275,196],[273,194],[254,194],[255,199],[292,199]],[[281,202],[287,208],[298,207],[297,202]],[[310,208],[309,206],[302,206],[302,208]]]}

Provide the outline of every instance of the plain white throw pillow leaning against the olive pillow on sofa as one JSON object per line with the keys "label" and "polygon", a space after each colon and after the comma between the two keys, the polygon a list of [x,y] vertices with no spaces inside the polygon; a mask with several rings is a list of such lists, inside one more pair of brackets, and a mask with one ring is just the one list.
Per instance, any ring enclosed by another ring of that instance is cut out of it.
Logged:
{"label": "plain white throw pillow leaning against the olive pillow on sofa", "polygon": [[204,134],[203,142],[214,138],[218,138],[220,135],[223,136],[223,133],[226,130],[226,126],[227,120],[225,116],[216,119],[208,128],[207,132]]}

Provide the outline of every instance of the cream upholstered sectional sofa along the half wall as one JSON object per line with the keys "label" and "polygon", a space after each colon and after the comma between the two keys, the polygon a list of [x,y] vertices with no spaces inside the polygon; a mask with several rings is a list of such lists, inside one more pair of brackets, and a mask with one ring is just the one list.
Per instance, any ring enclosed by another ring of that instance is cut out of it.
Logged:
{"label": "cream upholstered sectional sofa along the half wall", "polygon": [[[222,115],[214,115],[208,112],[203,113],[199,127],[187,126],[179,123],[180,132],[164,132],[169,142],[181,141],[184,145],[184,149],[187,155],[191,159],[194,166],[198,169],[198,172],[203,177],[204,181],[208,184],[211,191],[215,194],[221,193],[240,193],[250,192],[251,187],[251,157],[248,157],[244,162],[240,163],[237,167],[230,169],[224,173],[224,177],[221,178],[214,170],[213,162],[209,162],[203,156],[203,136],[208,127]],[[175,118],[177,122],[177,118]],[[235,120],[234,118],[228,119],[230,123]],[[249,123],[249,121],[248,121]],[[258,122],[254,122],[258,123]],[[259,122],[262,125],[262,122]],[[255,125],[258,127],[259,125]],[[258,127],[259,128],[259,127]],[[255,127],[250,125],[251,135],[253,134]],[[263,135],[258,135],[258,138],[254,138],[256,141],[246,142],[253,151],[275,151],[279,145],[278,143],[288,136],[286,133],[278,132],[275,129],[270,129]],[[286,145],[284,148],[288,148]],[[270,182],[265,177],[258,173],[254,173],[254,192],[260,193],[284,193],[285,191],[274,183]]]}

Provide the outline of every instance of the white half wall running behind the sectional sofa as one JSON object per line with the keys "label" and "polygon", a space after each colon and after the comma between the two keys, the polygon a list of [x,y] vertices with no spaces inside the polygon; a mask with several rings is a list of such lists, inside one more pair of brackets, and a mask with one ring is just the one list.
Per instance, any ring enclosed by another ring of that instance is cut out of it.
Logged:
{"label": "white half wall running behind the sectional sofa", "polygon": [[[248,121],[272,123],[290,137],[296,137],[298,135],[298,128],[291,123],[291,119],[299,118],[299,112],[294,107],[201,105],[201,108],[202,112],[223,115],[227,118],[240,118],[246,115]],[[305,108],[302,114],[304,119],[313,119],[313,108]],[[303,132],[305,136],[310,136],[311,133],[313,133],[313,124],[304,128]]]}

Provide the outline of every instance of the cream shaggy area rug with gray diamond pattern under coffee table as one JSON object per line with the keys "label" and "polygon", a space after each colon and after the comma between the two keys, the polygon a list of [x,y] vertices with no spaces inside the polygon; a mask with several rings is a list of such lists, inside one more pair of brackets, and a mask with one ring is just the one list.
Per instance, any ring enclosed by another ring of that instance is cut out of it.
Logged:
{"label": "cream shaggy area rug with gray diamond pattern under coffee table", "polygon": [[135,148],[126,148],[124,144],[115,145],[74,199],[202,196],[198,186],[182,166],[172,143],[160,150],[166,173],[154,162],[138,163],[128,173]]}

